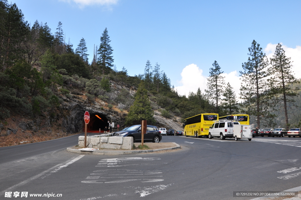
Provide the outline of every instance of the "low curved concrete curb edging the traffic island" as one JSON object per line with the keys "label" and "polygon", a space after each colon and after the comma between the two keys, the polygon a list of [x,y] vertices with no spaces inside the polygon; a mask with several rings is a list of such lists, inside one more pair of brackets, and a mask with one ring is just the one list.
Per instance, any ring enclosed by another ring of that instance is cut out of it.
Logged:
{"label": "low curved concrete curb edging the traffic island", "polygon": [[172,142],[176,145],[176,147],[170,147],[170,148],[160,148],[160,149],[154,149],[154,150],[140,150],[140,151],[132,151],[132,150],[124,150],[124,151],[93,151],[93,152],[86,152],[81,151],[79,149],[74,148],[67,148],[67,152],[73,152],[73,153],[79,153],[79,154],[96,154],[96,155],[121,155],[121,154],[142,154],[142,153],[153,153],[153,152],[159,152],[164,150],[173,150],[181,148],[180,145],[178,145],[175,142]]}

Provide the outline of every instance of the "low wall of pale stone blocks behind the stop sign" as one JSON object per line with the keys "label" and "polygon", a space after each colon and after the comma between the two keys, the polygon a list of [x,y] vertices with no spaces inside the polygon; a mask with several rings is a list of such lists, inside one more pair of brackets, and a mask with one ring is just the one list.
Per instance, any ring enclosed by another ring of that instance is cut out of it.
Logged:
{"label": "low wall of pale stone blocks behind the stop sign", "polygon": [[[112,148],[112,149],[132,149],[134,145],[133,137],[119,137],[103,134],[98,136],[87,136],[87,148]],[[79,147],[84,148],[85,136],[78,137]]]}

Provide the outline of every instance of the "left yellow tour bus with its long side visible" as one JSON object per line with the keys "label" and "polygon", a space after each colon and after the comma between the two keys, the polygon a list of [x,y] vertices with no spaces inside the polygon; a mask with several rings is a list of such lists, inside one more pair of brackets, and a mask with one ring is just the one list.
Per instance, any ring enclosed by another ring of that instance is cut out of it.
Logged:
{"label": "left yellow tour bus with its long side visible", "polygon": [[212,126],[214,120],[219,119],[219,114],[216,113],[203,113],[184,120],[184,134],[186,137],[207,137],[209,127]]}

